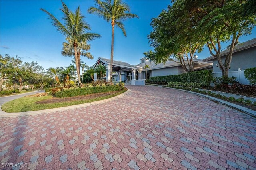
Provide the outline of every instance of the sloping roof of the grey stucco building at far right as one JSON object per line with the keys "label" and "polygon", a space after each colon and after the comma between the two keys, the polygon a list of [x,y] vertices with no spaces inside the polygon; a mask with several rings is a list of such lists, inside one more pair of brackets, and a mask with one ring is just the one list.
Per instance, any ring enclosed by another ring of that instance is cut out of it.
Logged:
{"label": "sloping roof of the grey stucco building at far right", "polygon": [[[236,45],[234,47],[233,53],[238,52],[238,51],[242,51],[244,49],[248,49],[248,48],[251,48],[251,47],[255,47],[255,46],[256,46],[256,38],[253,38],[253,39],[248,40],[246,42],[240,43],[239,45]],[[229,49],[225,49],[224,51],[220,52],[220,57],[228,55],[229,51],[230,51]],[[207,58],[203,59],[202,61],[210,61],[212,59],[216,59],[216,57],[213,57],[211,55],[210,57],[207,57]]]}

